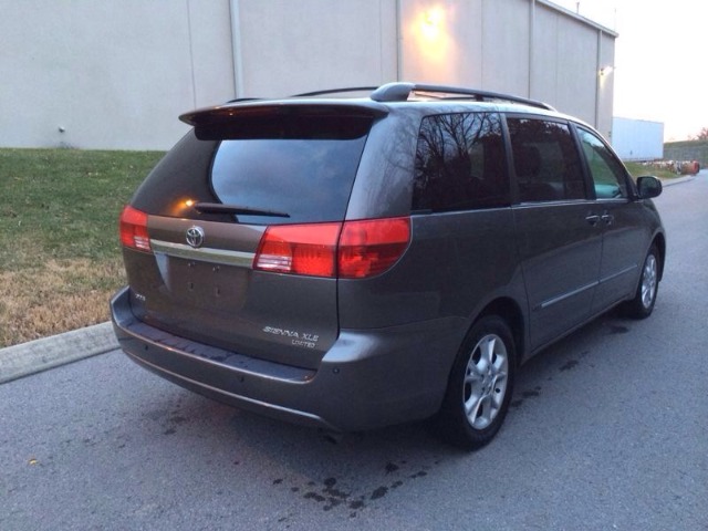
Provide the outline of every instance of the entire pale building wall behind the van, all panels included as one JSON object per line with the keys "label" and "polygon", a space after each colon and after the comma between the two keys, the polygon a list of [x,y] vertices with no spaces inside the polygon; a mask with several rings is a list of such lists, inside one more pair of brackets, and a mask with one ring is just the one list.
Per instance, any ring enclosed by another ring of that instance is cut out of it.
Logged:
{"label": "entire pale building wall behind the van, all panels included", "polygon": [[236,96],[397,79],[543,100],[610,136],[614,33],[546,0],[0,0],[0,146],[166,149]]}

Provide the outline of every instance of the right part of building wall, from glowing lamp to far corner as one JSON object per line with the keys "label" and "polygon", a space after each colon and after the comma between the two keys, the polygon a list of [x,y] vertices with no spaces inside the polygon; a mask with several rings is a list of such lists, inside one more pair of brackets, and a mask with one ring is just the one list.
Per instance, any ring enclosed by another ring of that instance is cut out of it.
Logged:
{"label": "right part of building wall, from glowing lamp to far corner", "polygon": [[402,2],[402,79],[541,100],[610,137],[616,34],[544,0]]}

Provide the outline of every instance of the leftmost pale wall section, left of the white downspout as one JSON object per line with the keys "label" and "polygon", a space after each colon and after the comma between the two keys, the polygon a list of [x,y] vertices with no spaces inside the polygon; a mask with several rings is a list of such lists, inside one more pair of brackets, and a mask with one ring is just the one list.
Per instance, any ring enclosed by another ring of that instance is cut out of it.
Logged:
{"label": "leftmost pale wall section, left of the white downspout", "polygon": [[[228,1],[0,0],[0,145],[166,149],[233,95]],[[63,132],[61,131],[63,129]]]}

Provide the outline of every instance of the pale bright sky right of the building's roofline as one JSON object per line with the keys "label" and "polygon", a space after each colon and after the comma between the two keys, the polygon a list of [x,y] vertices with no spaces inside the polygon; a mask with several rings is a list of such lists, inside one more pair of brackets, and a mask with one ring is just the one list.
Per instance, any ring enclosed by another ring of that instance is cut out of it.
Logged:
{"label": "pale bright sky right of the building's roofline", "polygon": [[615,116],[663,122],[666,140],[708,127],[708,1],[552,1],[620,33]]}

